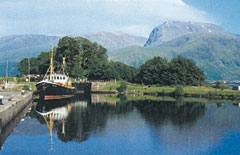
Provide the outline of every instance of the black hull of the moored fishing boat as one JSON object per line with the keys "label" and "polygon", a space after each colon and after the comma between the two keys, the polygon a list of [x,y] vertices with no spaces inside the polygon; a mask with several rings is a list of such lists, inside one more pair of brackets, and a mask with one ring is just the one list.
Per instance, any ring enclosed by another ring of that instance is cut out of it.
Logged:
{"label": "black hull of the moored fishing boat", "polygon": [[76,93],[75,88],[68,88],[50,82],[40,82],[36,87],[40,99],[44,100],[69,98]]}

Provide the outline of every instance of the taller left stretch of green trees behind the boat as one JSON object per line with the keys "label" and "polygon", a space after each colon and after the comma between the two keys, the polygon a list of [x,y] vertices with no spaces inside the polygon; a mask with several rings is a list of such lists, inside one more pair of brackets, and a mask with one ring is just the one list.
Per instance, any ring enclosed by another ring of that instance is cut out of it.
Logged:
{"label": "taller left stretch of green trees behind the boat", "polygon": [[[59,40],[53,51],[55,72],[60,72],[62,58],[65,57],[65,70],[73,78],[132,81],[135,77],[134,67],[121,62],[109,61],[104,47],[82,37],[65,36]],[[50,54],[51,50],[30,58],[30,73],[44,76],[49,67]],[[28,58],[18,63],[18,70],[21,75],[28,74]]]}

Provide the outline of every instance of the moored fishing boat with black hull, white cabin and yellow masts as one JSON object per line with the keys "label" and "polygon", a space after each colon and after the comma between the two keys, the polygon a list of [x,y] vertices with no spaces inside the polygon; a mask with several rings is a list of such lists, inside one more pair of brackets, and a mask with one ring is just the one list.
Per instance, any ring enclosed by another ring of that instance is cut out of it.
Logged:
{"label": "moored fishing boat with black hull, white cabin and yellow masts", "polygon": [[42,81],[36,84],[40,99],[63,99],[73,97],[76,88],[72,86],[70,78],[65,73],[65,58],[63,58],[62,73],[54,73],[53,49],[50,57],[50,66]]}

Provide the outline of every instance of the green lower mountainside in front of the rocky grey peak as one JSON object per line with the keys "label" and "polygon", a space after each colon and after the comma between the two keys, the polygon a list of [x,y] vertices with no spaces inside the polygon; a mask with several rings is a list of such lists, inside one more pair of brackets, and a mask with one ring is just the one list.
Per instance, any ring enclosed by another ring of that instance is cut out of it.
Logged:
{"label": "green lower mountainside in front of the rocky grey peak", "polygon": [[225,34],[195,33],[161,45],[130,46],[110,53],[109,58],[138,67],[154,56],[178,55],[193,59],[209,80],[240,78],[240,38]]}

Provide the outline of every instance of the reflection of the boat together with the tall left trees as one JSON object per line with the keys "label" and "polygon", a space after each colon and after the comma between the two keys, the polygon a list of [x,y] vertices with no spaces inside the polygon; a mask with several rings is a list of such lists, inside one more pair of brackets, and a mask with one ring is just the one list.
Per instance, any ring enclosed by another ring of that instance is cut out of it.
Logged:
{"label": "reflection of the boat together with the tall left trees", "polygon": [[107,102],[99,97],[43,100],[36,108],[36,118],[46,124],[50,131],[50,148],[56,131],[62,142],[81,143],[91,135],[101,135],[113,115],[132,112],[133,106],[126,102]]}

